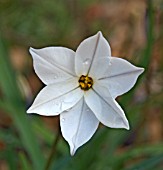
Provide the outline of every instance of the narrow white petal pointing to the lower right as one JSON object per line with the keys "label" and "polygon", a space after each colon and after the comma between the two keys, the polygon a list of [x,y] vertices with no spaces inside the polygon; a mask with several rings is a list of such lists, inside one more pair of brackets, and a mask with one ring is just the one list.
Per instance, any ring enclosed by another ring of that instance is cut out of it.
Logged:
{"label": "narrow white petal pointing to the lower right", "polygon": [[99,89],[100,86],[96,86],[93,87],[97,92],[91,89],[84,95],[88,107],[105,126],[129,129],[128,120],[122,108],[109,94],[102,91],[103,89]]}

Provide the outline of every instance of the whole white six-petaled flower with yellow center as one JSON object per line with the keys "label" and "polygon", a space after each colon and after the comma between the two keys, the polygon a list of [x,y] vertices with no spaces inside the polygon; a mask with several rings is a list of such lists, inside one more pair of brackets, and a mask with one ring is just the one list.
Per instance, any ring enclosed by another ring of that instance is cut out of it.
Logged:
{"label": "whole white six-petaled flower with yellow center", "polygon": [[84,40],[77,51],[64,47],[30,48],[34,70],[47,86],[27,113],[60,114],[62,135],[71,155],[95,133],[99,122],[111,128],[129,129],[115,98],[129,91],[143,68],[111,57],[101,32]]}

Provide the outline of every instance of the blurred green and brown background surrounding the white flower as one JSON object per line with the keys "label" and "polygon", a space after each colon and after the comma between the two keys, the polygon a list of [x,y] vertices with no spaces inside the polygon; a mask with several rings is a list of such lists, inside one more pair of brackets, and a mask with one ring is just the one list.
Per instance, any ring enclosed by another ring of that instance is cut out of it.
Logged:
{"label": "blurred green and brown background surrounding the white flower", "polygon": [[[58,117],[26,114],[44,87],[28,50],[75,50],[99,30],[145,72],[117,99],[131,129],[100,125],[71,157]],[[162,122],[163,0],[0,0],[0,170],[162,170]]]}

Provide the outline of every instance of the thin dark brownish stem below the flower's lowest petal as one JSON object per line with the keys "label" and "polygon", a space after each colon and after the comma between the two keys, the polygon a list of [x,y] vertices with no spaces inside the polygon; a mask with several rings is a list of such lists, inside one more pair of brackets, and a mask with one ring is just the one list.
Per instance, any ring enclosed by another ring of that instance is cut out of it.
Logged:
{"label": "thin dark brownish stem below the flower's lowest petal", "polygon": [[45,170],[49,170],[50,165],[51,165],[51,163],[53,161],[53,156],[55,155],[55,152],[56,152],[56,146],[57,146],[57,143],[59,141],[59,136],[60,136],[59,130],[57,130],[57,135],[56,135],[56,138],[54,139],[52,150],[51,150],[51,153],[50,153],[49,158],[47,160]]}

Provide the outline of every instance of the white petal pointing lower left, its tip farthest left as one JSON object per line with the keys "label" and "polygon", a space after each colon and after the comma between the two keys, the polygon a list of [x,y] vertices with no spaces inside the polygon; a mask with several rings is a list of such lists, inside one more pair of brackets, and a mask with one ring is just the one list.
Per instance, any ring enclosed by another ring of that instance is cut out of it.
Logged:
{"label": "white petal pointing lower left, its tip farthest left", "polygon": [[83,91],[78,88],[75,78],[64,83],[51,84],[40,91],[27,113],[55,116],[73,107],[82,96]]}

